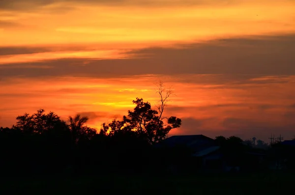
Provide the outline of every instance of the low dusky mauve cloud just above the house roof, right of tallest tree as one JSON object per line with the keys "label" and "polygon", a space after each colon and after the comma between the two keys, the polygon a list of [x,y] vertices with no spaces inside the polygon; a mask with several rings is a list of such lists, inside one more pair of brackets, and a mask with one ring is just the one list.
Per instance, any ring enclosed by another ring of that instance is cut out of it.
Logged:
{"label": "low dusky mauve cloud just above the house roof, right of tallest tree", "polygon": [[[216,126],[223,124],[225,128],[210,129],[206,124],[211,123]],[[255,121],[253,119],[244,118],[182,118],[182,127],[173,130],[169,135],[199,135],[215,138],[218,135],[225,137],[238,136],[242,139],[250,139],[256,137],[268,142],[270,134],[279,136],[281,134],[284,139],[292,139],[294,132],[294,124],[286,123],[283,125],[273,125],[264,121]]]}

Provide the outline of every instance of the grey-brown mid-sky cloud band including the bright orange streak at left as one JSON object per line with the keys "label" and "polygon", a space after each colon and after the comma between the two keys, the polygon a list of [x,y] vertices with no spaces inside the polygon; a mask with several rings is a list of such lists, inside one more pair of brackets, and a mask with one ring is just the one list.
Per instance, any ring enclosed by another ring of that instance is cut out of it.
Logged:
{"label": "grey-brown mid-sky cloud band including the bright orange streak at left", "polygon": [[[84,46],[84,48],[87,47]],[[256,78],[256,81],[251,76],[252,80],[248,82],[249,84],[251,82],[263,84],[265,82],[277,82],[278,80],[279,82],[286,82],[280,75],[295,74],[294,35],[254,36],[205,43],[177,44],[169,47],[137,48],[134,50],[128,48],[118,49],[117,51],[110,50],[108,47],[98,50],[94,46],[90,48],[93,49],[64,48],[59,49],[60,52],[47,52],[47,50],[52,51],[50,47],[40,49],[0,49],[2,54],[32,53],[0,56],[0,63],[5,63],[8,67],[0,71],[0,76],[43,77],[72,75],[101,78],[141,74],[221,74],[223,75],[221,76],[223,81],[235,77],[236,82],[239,82],[240,77],[251,79],[249,75],[272,75],[272,77]],[[40,53],[34,53],[38,50]],[[65,57],[68,58],[60,59]],[[53,68],[52,71],[42,71],[38,70],[38,68],[24,70],[18,68],[19,63],[22,63],[23,66],[50,66]],[[0,65],[0,67],[2,66]],[[185,79],[185,82],[194,79],[201,80],[202,78],[189,77]]]}

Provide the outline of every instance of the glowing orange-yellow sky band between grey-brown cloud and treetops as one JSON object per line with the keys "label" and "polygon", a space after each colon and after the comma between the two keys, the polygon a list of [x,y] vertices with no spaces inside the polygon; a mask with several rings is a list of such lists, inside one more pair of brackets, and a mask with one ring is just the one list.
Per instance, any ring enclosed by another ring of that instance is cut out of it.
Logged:
{"label": "glowing orange-yellow sky band between grey-brown cloud and treetops", "polygon": [[[285,106],[292,105],[294,102],[292,98],[284,97],[286,95],[295,97],[292,89],[295,82],[294,76],[276,78],[278,81],[276,83],[260,85],[234,83],[204,85],[177,81],[184,77],[187,76],[165,79],[165,85],[173,85],[173,90],[177,94],[177,96],[171,96],[172,102],[168,103],[165,112],[167,116],[177,115],[180,118],[199,120],[216,117],[220,123],[224,118],[231,117],[266,122],[271,120],[273,124],[280,124],[282,121],[290,122],[289,119],[284,118]],[[218,77],[214,75],[203,77],[207,81],[218,81]],[[5,80],[0,85],[1,121],[3,125],[9,126],[13,124],[14,120],[11,119],[15,116],[25,112],[33,113],[37,109],[44,108],[45,111],[55,111],[63,119],[75,113],[88,115],[89,125],[100,128],[101,123],[111,122],[113,118],[121,119],[128,110],[132,110],[134,108],[132,100],[136,97],[144,98],[155,108],[159,100],[154,92],[156,86],[147,78],[152,78],[153,81],[160,79],[157,75],[146,75],[120,79],[68,77]],[[258,77],[254,80],[264,81],[267,78]],[[279,81],[287,81],[287,83]],[[276,93],[271,93],[274,88]],[[282,99],[284,99],[283,102]],[[260,109],[261,105],[280,105],[280,107],[269,108],[265,112]],[[173,108],[180,108],[180,110],[170,110]],[[222,130],[223,127],[217,122],[204,125],[208,129]],[[175,133],[179,131],[176,130]]]}

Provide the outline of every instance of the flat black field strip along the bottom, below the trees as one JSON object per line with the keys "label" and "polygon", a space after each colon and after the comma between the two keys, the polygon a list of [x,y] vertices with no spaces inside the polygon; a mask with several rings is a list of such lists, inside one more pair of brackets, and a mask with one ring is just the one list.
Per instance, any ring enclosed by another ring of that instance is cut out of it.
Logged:
{"label": "flat black field strip along the bottom, below the trees", "polygon": [[294,189],[291,173],[2,177],[0,184],[3,195],[280,195],[294,194]]}

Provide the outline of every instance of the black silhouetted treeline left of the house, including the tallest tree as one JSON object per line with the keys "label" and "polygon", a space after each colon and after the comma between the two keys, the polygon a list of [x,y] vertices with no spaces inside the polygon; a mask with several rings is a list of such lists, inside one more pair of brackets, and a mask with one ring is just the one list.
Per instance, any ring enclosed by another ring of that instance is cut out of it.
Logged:
{"label": "black silhouetted treeline left of the house, including the tallest tree", "polygon": [[11,128],[0,128],[0,171],[13,175],[155,170],[151,145],[181,125],[176,116],[163,117],[167,101],[160,97],[158,111],[137,98],[133,111],[102,124],[99,131],[86,126],[88,118],[79,114],[67,121],[43,109],[17,116]]}

